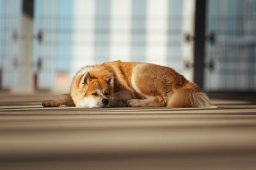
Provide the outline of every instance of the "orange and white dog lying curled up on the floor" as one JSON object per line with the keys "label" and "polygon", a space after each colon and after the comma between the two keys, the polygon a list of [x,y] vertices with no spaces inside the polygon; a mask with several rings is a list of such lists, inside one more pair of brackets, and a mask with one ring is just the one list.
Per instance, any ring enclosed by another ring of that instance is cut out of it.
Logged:
{"label": "orange and white dog lying curled up on the floor", "polygon": [[104,62],[82,67],[69,94],[44,107],[212,107],[207,94],[170,67],[145,62]]}

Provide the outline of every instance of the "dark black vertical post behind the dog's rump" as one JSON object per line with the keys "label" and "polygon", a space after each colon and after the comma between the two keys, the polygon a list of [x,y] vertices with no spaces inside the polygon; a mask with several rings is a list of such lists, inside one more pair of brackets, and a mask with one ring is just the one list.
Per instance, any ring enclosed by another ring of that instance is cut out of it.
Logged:
{"label": "dark black vertical post behind the dog's rump", "polygon": [[206,0],[196,0],[195,5],[194,82],[204,89]]}

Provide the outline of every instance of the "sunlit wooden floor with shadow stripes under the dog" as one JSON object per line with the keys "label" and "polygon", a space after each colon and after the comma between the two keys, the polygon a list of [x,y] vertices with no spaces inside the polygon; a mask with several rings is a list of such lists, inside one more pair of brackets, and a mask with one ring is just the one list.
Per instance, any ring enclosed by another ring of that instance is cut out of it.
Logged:
{"label": "sunlit wooden floor with shadow stripes under the dog", "polygon": [[43,108],[0,92],[0,169],[256,169],[256,97],[218,108]]}

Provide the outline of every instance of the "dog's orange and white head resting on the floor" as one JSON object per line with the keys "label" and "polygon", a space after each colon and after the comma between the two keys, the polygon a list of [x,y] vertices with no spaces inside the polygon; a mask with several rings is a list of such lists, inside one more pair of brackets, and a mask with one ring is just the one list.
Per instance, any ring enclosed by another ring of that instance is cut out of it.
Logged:
{"label": "dog's orange and white head resting on the floor", "polygon": [[76,106],[111,107],[114,103],[114,76],[108,71],[87,71],[73,80],[70,95]]}

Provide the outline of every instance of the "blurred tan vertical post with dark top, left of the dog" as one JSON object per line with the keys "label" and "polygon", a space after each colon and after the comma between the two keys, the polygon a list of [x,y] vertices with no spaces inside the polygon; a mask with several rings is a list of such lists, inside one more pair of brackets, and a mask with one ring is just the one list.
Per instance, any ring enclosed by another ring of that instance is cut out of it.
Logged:
{"label": "blurred tan vertical post with dark top, left of the dog", "polygon": [[22,1],[22,43],[20,90],[33,90],[33,18],[34,0]]}

